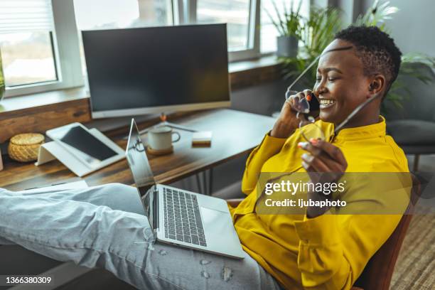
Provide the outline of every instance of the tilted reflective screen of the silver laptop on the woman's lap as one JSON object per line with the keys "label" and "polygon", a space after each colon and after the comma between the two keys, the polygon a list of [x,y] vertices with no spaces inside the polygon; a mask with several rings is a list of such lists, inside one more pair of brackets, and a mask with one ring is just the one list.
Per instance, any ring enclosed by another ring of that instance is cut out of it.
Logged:
{"label": "tilted reflective screen of the silver laptop on the woman's lap", "polygon": [[151,171],[151,166],[149,166],[145,146],[142,143],[139,129],[137,129],[134,119],[131,119],[129,141],[127,142],[125,155],[133,175],[134,183],[136,183],[142,204],[144,205],[149,224],[154,230],[157,223],[157,220],[154,219],[154,217],[157,217],[156,204],[158,195],[155,193],[156,181],[154,181],[153,171]]}

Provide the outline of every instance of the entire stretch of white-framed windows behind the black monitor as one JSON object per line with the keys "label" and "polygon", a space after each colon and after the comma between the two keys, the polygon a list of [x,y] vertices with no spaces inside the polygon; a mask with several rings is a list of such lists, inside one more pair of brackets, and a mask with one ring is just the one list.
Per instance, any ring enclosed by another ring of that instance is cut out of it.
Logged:
{"label": "entire stretch of white-framed windows behind the black monitor", "polygon": [[85,29],[224,22],[230,61],[271,53],[272,1],[308,15],[309,0],[0,0],[6,97],[83,85]]}

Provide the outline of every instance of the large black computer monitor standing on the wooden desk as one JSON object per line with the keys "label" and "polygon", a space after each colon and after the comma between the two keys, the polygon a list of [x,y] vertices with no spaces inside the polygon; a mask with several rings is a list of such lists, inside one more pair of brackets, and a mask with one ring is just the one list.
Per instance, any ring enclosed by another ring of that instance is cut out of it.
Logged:
{"label": "large black computer monitor standing on the wooden desk", "polygon": [[226,24],[82,31],[93,118],[230,106]]}

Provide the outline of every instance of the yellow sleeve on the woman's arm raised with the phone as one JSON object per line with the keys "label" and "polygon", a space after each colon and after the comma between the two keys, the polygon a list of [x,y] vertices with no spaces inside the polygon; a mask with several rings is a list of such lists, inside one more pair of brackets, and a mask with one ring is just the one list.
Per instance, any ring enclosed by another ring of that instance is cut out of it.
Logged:
{"label": "yellow sleeve on the woman's arm raised with the phone", "polygon": [[269,136],[269,133],[264,136],[262,143],[259,144],[254,150],[252,150],[251,154],[246,161],[245,172],[243,173],[242,178],[242,192],[246,195],[252,193],[254,190],[259,173],[262,170],[262,166],[264,162],[267,161],[270,157],[274,156],[281,150],[284,145],[286,139],[284,138],[275,138]]}

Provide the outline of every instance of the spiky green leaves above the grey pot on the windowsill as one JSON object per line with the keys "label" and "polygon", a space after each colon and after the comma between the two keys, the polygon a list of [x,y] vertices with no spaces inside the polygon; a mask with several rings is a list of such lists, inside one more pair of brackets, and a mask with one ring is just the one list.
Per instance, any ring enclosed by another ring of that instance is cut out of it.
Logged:
{"label": "spiky green leaves above the grey pot on the windowsill", "polygon": [[300,14],[301,4],[302,1],[299,2],[298,7],[294,10],[293,1],[290,2],[290,9],[287,9],[286,4],[283,2],[284,15],[281,15],[275,0],[272,0],[272,6],[274,6],[276,18],[274,18],[267,9],[264,9],[280,36],[294,36],[297,39],[301,38],[302,22],[304,21],[304,18]]}

